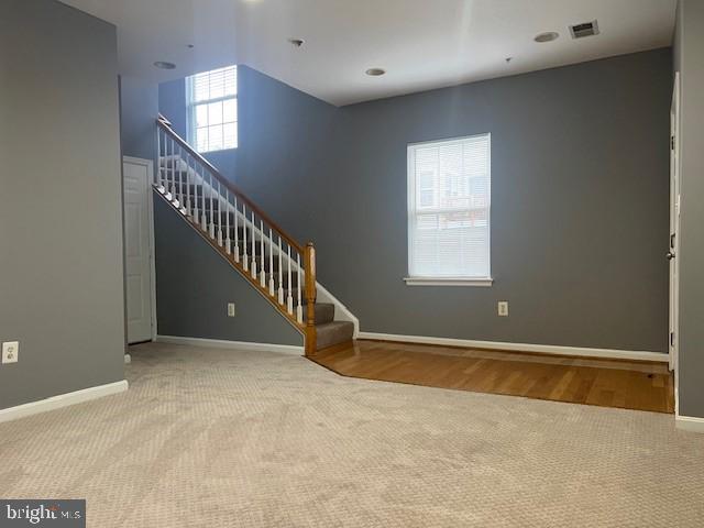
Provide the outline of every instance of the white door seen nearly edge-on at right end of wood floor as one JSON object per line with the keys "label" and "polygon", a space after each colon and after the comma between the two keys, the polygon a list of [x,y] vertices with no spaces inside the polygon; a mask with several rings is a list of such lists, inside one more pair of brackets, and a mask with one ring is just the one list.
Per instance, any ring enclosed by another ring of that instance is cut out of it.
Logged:
{"label": "white door seen nearly edge-on at right end of wood floor", "polygon": [[[679,252],[680,252],[680,74],[675,74],[670,110],[670,370],[678,365],[679,327]],[[676,371],[675,371],[676,372]],[[676,374],[675,374],[676,383]]]}

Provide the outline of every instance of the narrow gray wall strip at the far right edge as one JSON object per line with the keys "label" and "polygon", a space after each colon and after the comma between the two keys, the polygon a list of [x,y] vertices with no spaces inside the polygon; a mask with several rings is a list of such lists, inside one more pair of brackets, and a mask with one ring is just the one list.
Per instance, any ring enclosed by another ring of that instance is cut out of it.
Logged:
{"label": "narrow gray wall strip at the far right edge", "polygon": [[680,415],[704,417],[704,2],[681,0]]}

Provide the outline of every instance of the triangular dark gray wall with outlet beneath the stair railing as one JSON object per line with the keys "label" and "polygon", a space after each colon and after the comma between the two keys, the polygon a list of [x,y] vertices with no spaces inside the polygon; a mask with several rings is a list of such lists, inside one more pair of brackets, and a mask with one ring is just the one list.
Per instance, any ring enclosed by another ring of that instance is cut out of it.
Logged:
{"label": "triangular dark gray wall with outlet beneath the stair railing", "polygon": [[160,334],[302,345],[302,336],[157,196],[154,223]]}

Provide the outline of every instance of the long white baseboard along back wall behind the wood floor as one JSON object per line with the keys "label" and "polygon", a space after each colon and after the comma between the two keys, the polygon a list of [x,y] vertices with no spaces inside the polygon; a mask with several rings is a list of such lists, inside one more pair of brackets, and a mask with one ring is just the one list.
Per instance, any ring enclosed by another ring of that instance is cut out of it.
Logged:
{"label": "long white baseboard along back wall behind the wood floor", "polygon": [[499,341],[474,341],[470,339],[430,338],[424,336],[402,336],[394,333],[360,332],[359,339],[375,341],[399,341],[403,343],[439,344],[465,349],[505,350],[510,352],[537,352],[553,355],[581,355],[585,358],[608,358],[668,362],[668,354],[638,350],[587,349],[582,346],[559,346],[553,344],[503,343]]}

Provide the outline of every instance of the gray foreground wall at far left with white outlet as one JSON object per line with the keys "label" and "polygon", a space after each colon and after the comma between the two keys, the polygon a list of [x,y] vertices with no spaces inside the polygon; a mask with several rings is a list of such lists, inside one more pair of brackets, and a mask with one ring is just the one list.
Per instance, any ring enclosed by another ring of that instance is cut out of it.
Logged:
{"label": "gray foreground wall at far left with white outlet", "polygon": [[50,0],[0,14],[0,408],[124,378],[114,26]]}

